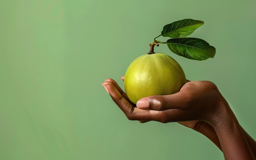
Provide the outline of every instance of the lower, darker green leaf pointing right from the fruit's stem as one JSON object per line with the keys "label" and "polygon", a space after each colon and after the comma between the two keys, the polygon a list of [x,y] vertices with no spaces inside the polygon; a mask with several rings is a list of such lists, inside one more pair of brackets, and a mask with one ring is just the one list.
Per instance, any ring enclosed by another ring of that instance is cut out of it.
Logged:
{"label": "lower, darker green leaf pointing right from the fruit's stem", "polygon": [[213,46],[198,38],[173,38],[166,44],[173,53],[198,61],[213,58],[216,52]]}

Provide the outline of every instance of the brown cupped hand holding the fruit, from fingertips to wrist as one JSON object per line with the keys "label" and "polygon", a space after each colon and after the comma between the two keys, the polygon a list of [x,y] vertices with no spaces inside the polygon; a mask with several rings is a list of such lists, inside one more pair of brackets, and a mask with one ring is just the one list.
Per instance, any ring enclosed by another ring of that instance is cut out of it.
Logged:
{"label": "brown cupped hand holding the fruit, from fingertips to wrist", "polygon": [[[124,77],[121,78],[124,79]],[[195,129],[195,125],[202,120],[214,125],[215,117],[221,112],[219,106],[225,101],[214,83],[189,81],[180,89],[180,92],[144,97],[135,107],[113,79],[106,79],[102,84],[127,118],[141,123],[181,122],[182,125]]]}

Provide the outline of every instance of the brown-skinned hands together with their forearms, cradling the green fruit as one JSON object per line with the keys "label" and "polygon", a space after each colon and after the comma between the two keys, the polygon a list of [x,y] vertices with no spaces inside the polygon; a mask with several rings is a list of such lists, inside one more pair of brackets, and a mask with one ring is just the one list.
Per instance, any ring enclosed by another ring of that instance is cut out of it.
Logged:
{"label": "brown-skinned hands together with their forearms, cradling the green fruit", "polygon": [[102,85],[130,120],[177,121],[207,136],[223,151],[225,159],[255,160],[255,140],[239,125],[227,101],[210,81],[191,81],[175,94],[144,97],[137,107],[113,79],[106,79]]}

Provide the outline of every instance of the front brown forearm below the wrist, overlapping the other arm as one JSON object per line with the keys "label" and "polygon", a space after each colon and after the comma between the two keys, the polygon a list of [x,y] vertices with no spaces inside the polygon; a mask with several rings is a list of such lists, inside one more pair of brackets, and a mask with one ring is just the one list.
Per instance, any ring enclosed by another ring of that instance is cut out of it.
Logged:
{"label": "front brown forearm below the wrist, overlapping the other arm", "polygon": [[[248,136],[227,103],[212,121],[226,160],[255,160]],[[250,141],[251,142],[251,141]],[[252,143],[251,145],[253,145]]]}

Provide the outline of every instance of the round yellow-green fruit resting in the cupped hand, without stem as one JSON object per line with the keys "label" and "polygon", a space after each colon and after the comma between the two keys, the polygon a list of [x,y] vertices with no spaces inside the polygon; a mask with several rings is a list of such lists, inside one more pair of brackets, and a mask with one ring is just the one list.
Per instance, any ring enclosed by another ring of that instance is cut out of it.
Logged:
{"label": "round yellow-green fruit resting in the cupped hand, without stem", "polygon": [[124,77],[124,89],[134,104],[143,97],[179,92],[186,83],[181,66],[164,53],[146,54],[136,58]]}

